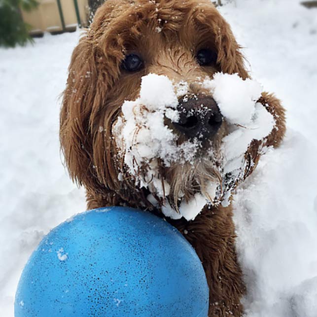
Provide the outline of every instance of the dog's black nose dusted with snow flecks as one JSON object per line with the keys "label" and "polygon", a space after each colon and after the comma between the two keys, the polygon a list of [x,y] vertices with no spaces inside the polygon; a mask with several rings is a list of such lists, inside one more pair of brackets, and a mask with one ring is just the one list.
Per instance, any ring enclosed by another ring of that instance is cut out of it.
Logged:
{"label": "dog's black nose dusted with snow flecks", "polygon": [[209,139],[221,126],[222,115],[211,97],[182,98],[177,109],[179,121],[173,124],[189,139]]}

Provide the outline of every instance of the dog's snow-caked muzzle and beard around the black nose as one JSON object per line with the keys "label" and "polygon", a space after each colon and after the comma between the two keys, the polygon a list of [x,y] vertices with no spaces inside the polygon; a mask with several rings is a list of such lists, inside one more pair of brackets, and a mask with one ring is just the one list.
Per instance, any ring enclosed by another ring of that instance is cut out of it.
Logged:
{"label": "dog's snow-caked muzzle and beard around the black nose", "polygon": [[256,103],[262,91],[257,82],[217,73],[197,84],[216,100],[224,119],[210,140],[184,139],[173,129],[180,119],[179,98],[192,94],[188,83],[163,75],[143,76],[140,97],[124,102],[112,126],[124,164],[118,180],[133,178],[136,187],[149,190],[148,201],[174,219],[192,220],[206,204],[226,206],[252,164],[245,159],[249,144],[264,140],[275,124]]}

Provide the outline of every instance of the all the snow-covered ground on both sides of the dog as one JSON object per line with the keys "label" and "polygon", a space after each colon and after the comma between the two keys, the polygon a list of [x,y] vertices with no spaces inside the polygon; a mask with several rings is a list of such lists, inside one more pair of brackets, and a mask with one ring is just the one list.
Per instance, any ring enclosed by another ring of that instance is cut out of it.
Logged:
{"label": "all the snow-covered ground on both sides of the dog", "polygon": [[[248,317],[317,317],[317,9],[299,0],[236,0],[221,12],[254,78],[287,109],[282,146],[235,195]],[[52,227],[85,210],[60,158],[59,94],[79,33],[0,49],[0,315]]]}

